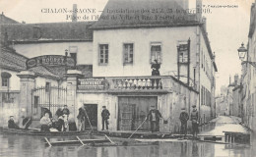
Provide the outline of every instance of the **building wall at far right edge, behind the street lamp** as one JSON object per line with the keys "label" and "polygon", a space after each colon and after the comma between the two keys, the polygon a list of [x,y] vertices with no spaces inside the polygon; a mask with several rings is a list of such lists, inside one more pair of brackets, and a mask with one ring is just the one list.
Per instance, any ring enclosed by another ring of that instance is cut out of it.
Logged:
{"label": "building wall at far right edge, behind the street lamp", "polygon": [[256,8],[255,3],[251,6],[251,17],[250,17],[250,27],[248,34],[248,44],[247,44],[247,56],[246,60],[249,62],[254,62],[254,64],[245,63],[242,64],[242,119],[246,127],[256,131],[256,120],[255,120],[255,104],[256,104],[256,33],[255,33],[255,23],[256,23]]}

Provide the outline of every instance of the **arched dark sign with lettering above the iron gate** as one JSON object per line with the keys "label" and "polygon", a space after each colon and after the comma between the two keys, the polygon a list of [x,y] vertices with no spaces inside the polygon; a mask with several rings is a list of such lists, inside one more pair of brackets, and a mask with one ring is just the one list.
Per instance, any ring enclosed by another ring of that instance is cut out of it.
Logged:
{"label": "arched dark sign with lettering above the iron gate", "polygon": [[38,56],[27,60],[27,69],[38,67],[38,66],[68,66],[74,67],[75,61],[71,57],[61,55],[45,55]]}

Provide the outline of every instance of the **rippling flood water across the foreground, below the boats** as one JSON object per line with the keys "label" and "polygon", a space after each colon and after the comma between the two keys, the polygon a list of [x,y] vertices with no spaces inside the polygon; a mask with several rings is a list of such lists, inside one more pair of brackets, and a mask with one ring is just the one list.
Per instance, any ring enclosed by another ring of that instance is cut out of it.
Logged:
{"label": "rippling flood water across the foreground, below the boats", "polygon": [[[74,138],[75,139],[75,138]],[[81,147],[44,145],[43,137],[0,134],[2,157],[253,157],[252,146],[225,145],[199,141],[158,142],[144,146]]]}

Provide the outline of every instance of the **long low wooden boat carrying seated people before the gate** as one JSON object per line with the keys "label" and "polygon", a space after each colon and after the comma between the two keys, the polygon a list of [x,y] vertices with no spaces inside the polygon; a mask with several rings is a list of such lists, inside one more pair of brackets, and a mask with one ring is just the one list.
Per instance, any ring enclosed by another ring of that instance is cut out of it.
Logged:
{"label": "long low wooden boat carrying seated people before the gate", "polygon": [[8,129],[0,128],[0,132],[13,133],[13,134],[27,134],[27,135],[39,135],[39,136],[74,136],[74,135],[86,135],[89,131],[40,131],[36,129]]}

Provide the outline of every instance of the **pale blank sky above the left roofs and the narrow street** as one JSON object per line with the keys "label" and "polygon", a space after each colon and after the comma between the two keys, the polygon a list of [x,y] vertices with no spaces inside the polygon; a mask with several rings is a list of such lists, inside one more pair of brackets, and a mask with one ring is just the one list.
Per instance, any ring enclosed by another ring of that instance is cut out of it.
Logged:
{"label": "pale blank sky above the left roofs and the narrow street", "polygon": [[[189,0],[189,8],[195,8],[196,0]],[[211,13],[203,14],[207,18],[207,31],[213,52],[216,54],[218,73],[216,75],[216,91],[220,93],[222,85],[228,85],[229,76],[233,80],[235,74],[241,74],[241,62],[237,49],[242,42],[247,43],[250,23],[250,7],[255,0],[203,0],[203,5],[226,6],[236,5],[237,8],[213,8]],[[100,14],[107,0],[0,0],[0,13],[18,22],[53,23],[70,22],[71,14],[43,13],[47,9],[96,9]],[[83,18],[91,13],[78,14]],[[83,20],[82,20],[83,21]]]}

